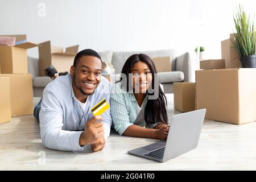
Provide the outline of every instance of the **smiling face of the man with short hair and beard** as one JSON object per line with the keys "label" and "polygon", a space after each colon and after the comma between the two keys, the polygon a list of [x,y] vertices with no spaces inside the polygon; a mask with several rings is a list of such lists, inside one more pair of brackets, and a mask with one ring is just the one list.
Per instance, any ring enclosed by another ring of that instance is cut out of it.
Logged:
{"label": "smiling face of the man with short hair and beard", "polygon": [[70,73],[75,89],[84,95],[93,94],[101,81],[101,60],[94,56],[82,56],[76,68],[71,67]]}

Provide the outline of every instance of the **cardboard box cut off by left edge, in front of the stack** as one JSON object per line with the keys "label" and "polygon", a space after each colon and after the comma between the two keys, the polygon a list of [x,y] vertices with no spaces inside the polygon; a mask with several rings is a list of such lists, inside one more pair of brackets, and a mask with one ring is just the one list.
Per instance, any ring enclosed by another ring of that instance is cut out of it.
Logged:
{"label": "cardboard box cut off by left edge, in front of the stack", "polygon": [[0,124],[11,121],[10,78],[0,77]]}

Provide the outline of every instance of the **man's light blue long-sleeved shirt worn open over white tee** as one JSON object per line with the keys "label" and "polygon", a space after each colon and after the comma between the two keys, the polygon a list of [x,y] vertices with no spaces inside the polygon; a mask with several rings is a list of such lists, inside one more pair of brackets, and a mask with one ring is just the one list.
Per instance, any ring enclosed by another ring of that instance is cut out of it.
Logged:
{"label": "man's light blue long-sleeved shirt worn open over white tee", "polygon": [[[85,123],[93,117],[90,109],[103,98],[109,103],[111,84],[101,77],[94,93],[86,100],[85,111],[75,99],[71,75],[60,76],[50,82],[43,92],[39,113],[40,133],[44,146],[55,150],[81,151],[79,138]],[[105,139],[109,137],[112,118],[110,109],[102,114]]]}

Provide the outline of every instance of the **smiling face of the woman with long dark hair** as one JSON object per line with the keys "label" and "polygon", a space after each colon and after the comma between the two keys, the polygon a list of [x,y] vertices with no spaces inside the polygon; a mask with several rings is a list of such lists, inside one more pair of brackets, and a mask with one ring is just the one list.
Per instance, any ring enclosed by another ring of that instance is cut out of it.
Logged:
{"label": "smiling face of the woman with long dark hair", "polygon": [[130,73],[134,93],[146,93],[152,83],[150,67],[142,61],[138,61],[133,65]]}

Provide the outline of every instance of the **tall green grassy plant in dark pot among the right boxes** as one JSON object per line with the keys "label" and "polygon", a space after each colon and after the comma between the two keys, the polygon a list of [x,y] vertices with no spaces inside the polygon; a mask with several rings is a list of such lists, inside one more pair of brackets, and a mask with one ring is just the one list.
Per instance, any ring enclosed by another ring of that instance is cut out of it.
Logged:
{"label": "tall green grassy plant in dark pot among the right boxes", "polygon": [[254,18],[246,15],[245,10],[239,5],[233,19],[237,32],[234,33],[232,42],[240,55],[242,67],[256,68]]}

